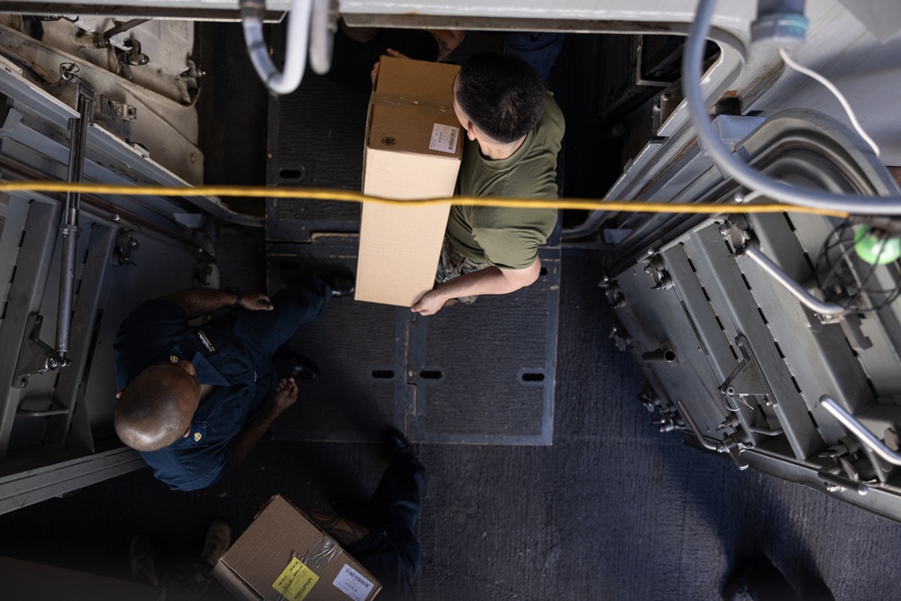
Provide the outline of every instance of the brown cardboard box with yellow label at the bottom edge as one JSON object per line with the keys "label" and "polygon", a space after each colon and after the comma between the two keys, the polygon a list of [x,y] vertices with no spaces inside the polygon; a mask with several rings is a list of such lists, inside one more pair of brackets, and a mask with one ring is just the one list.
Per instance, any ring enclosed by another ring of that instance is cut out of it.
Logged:
{"label": "brown cardboard box with yellow label at the bottom edge", "polygon": [[338,542],[273,496],[213,569],[238,599],[370,601],[382,586]]}

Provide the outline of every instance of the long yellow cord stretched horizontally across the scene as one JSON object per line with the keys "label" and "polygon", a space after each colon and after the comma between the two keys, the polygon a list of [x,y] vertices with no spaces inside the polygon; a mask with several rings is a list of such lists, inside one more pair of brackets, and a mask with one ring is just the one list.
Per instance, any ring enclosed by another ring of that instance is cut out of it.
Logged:
{"label": "long yellow cord stretched horizontally across the scene", "polygon": [[600,211],[623,211],[629,213],[683,213],[683,214],[749,214],[749,213],[806,213],[848,217],[844,211],[833,211],[807,206],[760,203],[748,205],[719,205],[715,203],[646,203],[641,200],[614,201],[597,198],[560,198],[558,200],[538,200],[528,198],[498,198],[482,196],[453,196],[451,198],[422,198],[397,200],[365,196],[347,190],[330,190],[309,187],[267,187],[267,186],[119,186],[110,184],[68,184],[49,181],[0,182],[0,192],[77,192],[90,195],[123,196],[248,196],[254,198],[291,198],[304,200],[337,200],[351,203],[373,203],[376,205],[472,205],[472,206],[517,206],[532,209],[584,209]]}

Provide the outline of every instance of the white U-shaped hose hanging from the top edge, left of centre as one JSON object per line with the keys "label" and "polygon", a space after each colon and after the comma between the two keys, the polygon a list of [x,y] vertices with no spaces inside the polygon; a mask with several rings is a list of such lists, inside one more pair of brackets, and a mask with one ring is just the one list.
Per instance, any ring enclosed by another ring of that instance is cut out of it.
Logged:
{"label": "white U-shaped hose hanging from the top edge, left of centre", "polygon": [[291,0],[287,16],[285,42],[285,70],[279,72],[269,57],[269,47],[263,37],[261,18],[265,5],[261,0],[241,0],[241,24],[250,62],[259,78],[273,94],[290,94],[300,86],[306,68],[306,49],[310,38],[310,0]]}

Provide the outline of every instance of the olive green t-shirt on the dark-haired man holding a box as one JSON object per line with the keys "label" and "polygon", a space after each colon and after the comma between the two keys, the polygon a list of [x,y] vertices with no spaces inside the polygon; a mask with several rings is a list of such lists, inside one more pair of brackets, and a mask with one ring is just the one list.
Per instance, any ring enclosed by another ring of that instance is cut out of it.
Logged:
{"label": "olive green t-shirt on the dark-haired man holding a box", "polygon": [[[557,198],[557,153],[563,139],[560,107],[544,94],[544,113],[523,145],[507,159],[486,159],[467,140],[460,165],[460,196]],[[501,269],[525,269],[557,224],[556,209],[451,206],[448,237],[463,256]]]}

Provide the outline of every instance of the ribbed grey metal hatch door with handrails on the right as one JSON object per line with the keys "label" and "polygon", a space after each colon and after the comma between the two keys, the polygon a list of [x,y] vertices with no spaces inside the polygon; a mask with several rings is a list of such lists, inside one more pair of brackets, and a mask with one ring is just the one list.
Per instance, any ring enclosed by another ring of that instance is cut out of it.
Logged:
{"label": "ribbed grey metal hatch door with handrails on the right", "polygon": [[[896,193],[878,159],[822,114],[717,121],[771,177]],[[656,186],[649,196],[669,187],[675,200],[754,202],[697,142]],[[857,260],[843,220],[812,214],[618,214],[605,228],[624,236],[602,282],[618,320],[610,335],[641,365],[640,400],[661,432],[901,521],[898,462],[885,449],[897,449],[901,420],[896,262]],[[861,442],[867,432],[873,442]]]}

